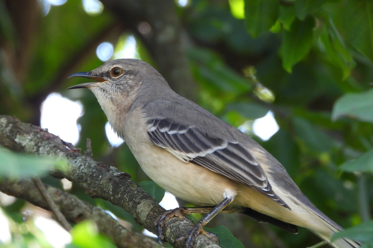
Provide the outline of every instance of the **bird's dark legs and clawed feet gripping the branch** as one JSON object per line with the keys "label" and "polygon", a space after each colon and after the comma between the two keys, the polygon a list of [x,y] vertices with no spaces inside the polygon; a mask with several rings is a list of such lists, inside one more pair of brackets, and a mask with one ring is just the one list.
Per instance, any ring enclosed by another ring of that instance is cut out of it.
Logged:
{"label": "bird's dark legs and clawed feet gripping the branch", "polygon": [[164,223],[173,218],[173,217],[179,217],[182,218],[185,215],[189,213],[208,213],[206,216],[204,216],[195,226],[191,229],[191,231],[188,232],[187,235],[182,236],[178,238],[176,242],[181,242],[184,239],[186,239],[186,247],[191,248],[194,245],[194,240],[197,237],[199,233],[202,233],[204,235],[210,236],[211,238],[216,239],[216,235],[213,233],[209,233],[207,231],[203,230],[203,227],[212,219],[215,215],[217,215],[219,212],[235,212],[236,209],[224,209],[226,206],[228,206],[233,201],[232,198],[225,198],[222,202],[217,204],[216,206],[206,206],[206,207],[178,207],[176,209],[168,210],[165,212],[162,216],[160,216],[158,222],[157,222],[157,229],[158,229],[158,242],[162,245],[162,239],[163,236],[163,226]]}

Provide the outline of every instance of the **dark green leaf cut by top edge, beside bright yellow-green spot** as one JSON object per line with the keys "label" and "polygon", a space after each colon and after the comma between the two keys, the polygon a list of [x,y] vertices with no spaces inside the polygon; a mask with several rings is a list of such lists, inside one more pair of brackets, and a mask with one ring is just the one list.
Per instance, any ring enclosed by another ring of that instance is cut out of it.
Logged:
{"label": "dark green leaf cut by top edge, beside bright yellow-green spot", "polygon": [[279,6],[278,0],[245,0],[246,29],[253,38],[257,38],[275,24]]}

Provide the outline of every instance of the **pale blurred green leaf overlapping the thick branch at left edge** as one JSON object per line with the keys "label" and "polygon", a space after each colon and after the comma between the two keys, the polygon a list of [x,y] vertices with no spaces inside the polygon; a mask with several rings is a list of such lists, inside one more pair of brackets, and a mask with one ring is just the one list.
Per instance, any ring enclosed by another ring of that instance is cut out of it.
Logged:
{"label": "pale blurred green leaf overlapping the thick branch at left edge", "polygon": [[67,162],[53,158],[18,154],[0,147],[0,178],[33,177],[47,173],[52,167],[65,170]]}

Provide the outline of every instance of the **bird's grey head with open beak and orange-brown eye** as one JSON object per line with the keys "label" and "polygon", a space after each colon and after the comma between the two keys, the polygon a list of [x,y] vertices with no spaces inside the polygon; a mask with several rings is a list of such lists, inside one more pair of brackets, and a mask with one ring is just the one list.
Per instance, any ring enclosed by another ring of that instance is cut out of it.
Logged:
{"label": "bird's grey head with open beak and orange-brown eye", "polygon": [[70,77],[95,80],[68,89],[90,89],[109,122],[114,120],[118,113],[126,113],[135,102],[140,104],[148,96],[169,88],[162,75],[151,65],[139,59],[116,59],[92,71],[75,73]]}

